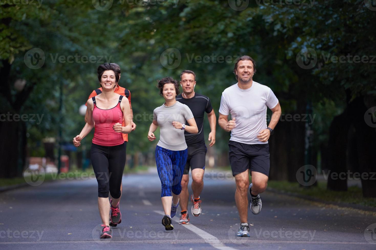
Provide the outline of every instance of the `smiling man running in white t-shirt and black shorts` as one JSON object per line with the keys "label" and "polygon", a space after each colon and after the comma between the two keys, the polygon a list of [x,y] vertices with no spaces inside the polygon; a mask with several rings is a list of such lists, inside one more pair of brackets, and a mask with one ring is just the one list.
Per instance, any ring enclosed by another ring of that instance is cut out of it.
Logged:
{"label": "smiling man running in white t-shirt and black shorts", "polygon": [[[238,236],[249,237],[247,193],[249,190],[252,213],[260,213],[259,194],[267,187],[270,168],[268,139],[278,123],[281,108],[269,87],[252,80],[256,72],[255,60],[247,55],[240,57],[233,72],[238,82],[222,93],[218,124],[227,132],[231,131],[229,159],[237,186],[235,201],[241,222]],[[266,124],[267,108],[273,111],[269,126]],[[228,120],[229,114],[232,120]]]}

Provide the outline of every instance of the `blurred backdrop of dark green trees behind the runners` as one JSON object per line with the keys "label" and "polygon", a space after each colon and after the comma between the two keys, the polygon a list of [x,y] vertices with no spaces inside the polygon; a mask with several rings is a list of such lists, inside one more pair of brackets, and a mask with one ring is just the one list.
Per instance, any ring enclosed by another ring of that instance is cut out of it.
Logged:
{"label": "blurred backdrop of dark green trees behind the runners", "polygon": [[[193,70],[195,91],[218,117],[222,91],[237,82],[235,61],[250,55],[253,80],[282,107],[269,140],[270,187],[296,190],[307,174],[318,193],[376,197],[373,0],[8,0],[0,19],[2,186],[24,183],[26,169],[90,171],[94,130],[80,148],[72,140],[85,125],[82,105],[100,87],[100,64],[119,64],[119,85],[131,93],[132,172],[155,166],[158,140],[147,132],[164,102],[158,79]],[[207,117],[204,126],[207,139]],[[229,169],[229,138],[217,124],[206,169]]]}

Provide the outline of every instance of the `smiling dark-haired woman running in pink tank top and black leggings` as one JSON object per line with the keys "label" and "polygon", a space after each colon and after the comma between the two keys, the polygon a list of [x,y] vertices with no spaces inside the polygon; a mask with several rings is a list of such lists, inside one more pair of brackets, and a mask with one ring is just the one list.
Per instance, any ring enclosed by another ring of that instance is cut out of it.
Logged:
{"label": "smiling dark-haired woman running in pink tank top and black leggings", "polygon": [[[119,70],[114,65],[105,63],[98,67],[97,73],[102,93],[86,102],[87,122],[81,133],[73,139],[73,144],[79,147],[81,140],[95,128],[90,154],[98,181],[99,213],[103,223],[100,238],[112,238],[109,225],[117,226],[121,223],[120,187],[126,161],[126,144],[122,133],[127,134],[132,130],[131,115],[127,98],[123,100],[123,96],[114,93]],[[112,197],[110,201],[108,193]]]}

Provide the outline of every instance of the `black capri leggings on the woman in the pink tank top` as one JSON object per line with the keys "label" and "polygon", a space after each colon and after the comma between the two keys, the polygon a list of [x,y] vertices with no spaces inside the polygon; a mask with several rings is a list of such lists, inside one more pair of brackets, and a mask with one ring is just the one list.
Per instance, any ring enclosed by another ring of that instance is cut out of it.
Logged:
{"label": "black capri leggings on the woman in the pink tank top", "polygon": [[98,181],[98,197],[121,196],[120,186],[126,160],[127,142],[116,146],[101,146],[92,143],[90,156]]}

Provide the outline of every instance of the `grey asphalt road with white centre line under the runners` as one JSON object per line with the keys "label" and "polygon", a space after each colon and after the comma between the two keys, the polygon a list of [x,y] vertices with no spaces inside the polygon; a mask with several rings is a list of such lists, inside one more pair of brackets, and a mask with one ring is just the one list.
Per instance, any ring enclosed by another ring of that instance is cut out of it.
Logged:
{"label": "grey asphalt road with white centre line under the runners", "polygon": [[122,223],[108,240],[99,240],[95,179],[2,192],[0,249],[376,249],[375,216],[271,192],[260,214],[249,209],[251,237],[236,237],[235,180],[208,171],[204,183],[201,216],[165,231],[156,170],[124,176]]}

